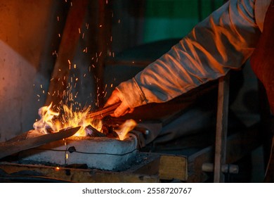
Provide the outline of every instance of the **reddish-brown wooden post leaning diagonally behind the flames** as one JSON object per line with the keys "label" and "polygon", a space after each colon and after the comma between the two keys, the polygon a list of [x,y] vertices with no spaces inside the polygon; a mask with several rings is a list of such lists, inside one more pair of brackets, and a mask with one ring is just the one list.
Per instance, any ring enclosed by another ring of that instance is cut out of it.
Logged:
{"label": "reddish-brown wooden post leaning diagonally behind the flames", "polygon": [[45,105],[53,103],[58,105],[63,100],[65,90],[67,89],[67,78],[70,74],[70,61],[72,61],[79,41],[79,28],[83,24],[86,15],[86,6],[88,0],[72,0],[70,11],[67,15],[65,29],[60,34],[61,42],[58,49],[58,58],[51,75],[51,83],[48,88],[48,96]]}

